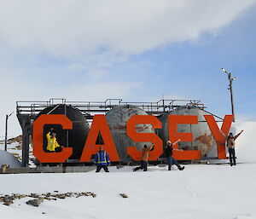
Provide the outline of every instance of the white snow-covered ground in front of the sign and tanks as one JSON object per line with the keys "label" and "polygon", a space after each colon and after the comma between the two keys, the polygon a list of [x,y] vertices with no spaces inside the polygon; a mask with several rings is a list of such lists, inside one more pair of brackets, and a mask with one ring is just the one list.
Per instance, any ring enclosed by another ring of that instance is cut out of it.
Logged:
{"label": "white snow-covered ground in front of the sign and tanks", "polygon": [[[238,164],[187,164],[185,170],[167,171],[150,166],[132,172],[131,166],[110,173],[0,175],[0,193],[93,192],[96,198],[44,200],[37,208],[29,198],[0,205],[4,219],[253,219],[256,218],[256,123],[237,123]],[[128,195],[122,198],[119,193]]]}

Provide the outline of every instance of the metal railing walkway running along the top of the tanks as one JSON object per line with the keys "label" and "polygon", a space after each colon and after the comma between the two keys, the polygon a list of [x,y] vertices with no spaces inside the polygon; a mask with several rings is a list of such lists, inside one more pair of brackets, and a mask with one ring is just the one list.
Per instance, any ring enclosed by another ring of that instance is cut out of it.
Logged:
{"label": "metal railing walkway running along the top of the tanks", "polygon": [[122,99],[107,99],[106,101],[67,101],[63,98],[51,98],[49,101],[17,101],[17,115],[37,115],[46,107],[67,105],[78,108],[82,113],[93,115],[107,113],[110,109],[120,105],[133,105],[148,112],[148,114],[160,114],[171,112],[177,107],[198,107],[204,109],[204,104],[197,100],[160,100],[156,102],[129,102]]}

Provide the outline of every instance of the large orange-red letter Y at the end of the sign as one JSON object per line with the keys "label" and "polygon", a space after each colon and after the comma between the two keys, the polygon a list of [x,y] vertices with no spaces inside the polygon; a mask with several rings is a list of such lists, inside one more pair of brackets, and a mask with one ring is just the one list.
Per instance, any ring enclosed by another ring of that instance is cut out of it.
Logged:
{"label": "large orange-red letter Y at the end of the sign", "polygon": [[[221,135],[218,125],[213,118],[212,115],[205,115],[204,116],[207,120],[207,124],[209,125],[212,135],[215,138],[215,141],[217,142],[217,148],[218,148],[218,158],[219,159],[225,159],[226,157],[226,148],[225,148],[225,141],[226,139],[224,138],[223,135]],[[224,135],[228,135],[230,131],[230,126],[232,124],[233,116],[232,115],[226,115],[221,127],[222,132]]]}

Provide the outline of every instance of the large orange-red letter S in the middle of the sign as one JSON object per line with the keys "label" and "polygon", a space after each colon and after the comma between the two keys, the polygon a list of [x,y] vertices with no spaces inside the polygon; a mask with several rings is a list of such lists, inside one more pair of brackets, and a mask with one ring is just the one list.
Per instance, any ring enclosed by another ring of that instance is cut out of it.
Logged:
{"label": "large orange-red letter S in the middle of the sign", "polygon": [[[154,129],[162,127],[158,118],[151,115],[133,115],[126,123],[126,132],[133,141],[136,142],[152,142],[154,143],[154,150],[149,152],[148,160],[157,160],[163,153],[163,141],[154,133],[137,133],[137,124],[152,124]],[[142,159],[142,152],[137,150],[137,147],[127,147],[127,153],[134,160]]]}

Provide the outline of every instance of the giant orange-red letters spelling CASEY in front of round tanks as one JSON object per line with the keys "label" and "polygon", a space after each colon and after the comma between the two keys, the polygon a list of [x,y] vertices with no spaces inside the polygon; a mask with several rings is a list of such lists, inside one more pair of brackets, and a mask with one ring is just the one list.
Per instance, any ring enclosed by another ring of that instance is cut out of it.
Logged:
{"label": "giant orange-red letters spelling CASEY in front of round tanks", "polygon": [[[232,124],[232,115],[226,115],[221,129],[212,115],[204,115],[207,124],[212,131],[212,135],[217,142],[218,158],[226,158],[225,138],[221,134],[228,135]],[[41,163],[64,163],[73,154],[73,147],[63,147],[60,153],[46,153],[43,149],[44,125],[45,124],[61,124],[62,129],[72,130],[73,122],[65,115],[50,114],[41,115],[33,123],[33,154]],[[152,142],[154,150],[149,153],[148,160],[157,160],[163,153],[163,141],[154,133],[137,133],[137,124],[151,124],[154,129],[161,129],[160,120],[153,115],[133,115],[126,123],[126,134],[132,141],[136,142]],[[168,132],[169,140],[174,142],[177,139],[181,141],[193,141],[192,133],[178,133],[177,124],[198,124],[198,117],[194,115],[168,115]],[[97,137],[101,133],[104,145],[96,145]],[[103,146],[108,152],[109,158],[113,162],[119,161],[119,154],[113,142],[113,137],[108,127],[107,120],[104,115],[95,115],[90,127],[88,137],[84,144],[83,153],[80,162],[90,162],[92,154],[96,154],[99,147]],[[173,146],[177,148],[177,144]],[[137,147],[127,147],[127,154],[134,160],[141,159],[142,152]],[[201,152],[198,150],[190,151],[174,151],[173,157],[179,160],[200,159]]]}

